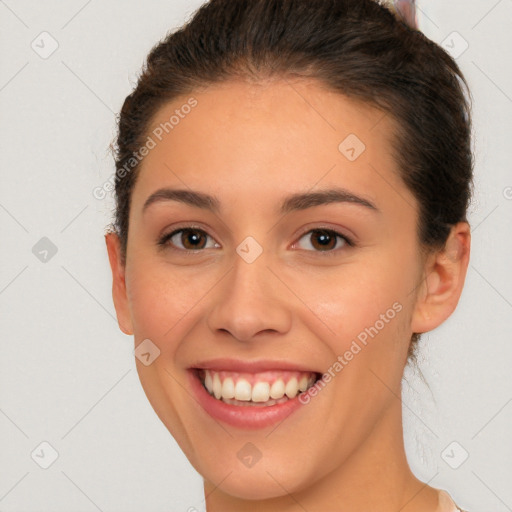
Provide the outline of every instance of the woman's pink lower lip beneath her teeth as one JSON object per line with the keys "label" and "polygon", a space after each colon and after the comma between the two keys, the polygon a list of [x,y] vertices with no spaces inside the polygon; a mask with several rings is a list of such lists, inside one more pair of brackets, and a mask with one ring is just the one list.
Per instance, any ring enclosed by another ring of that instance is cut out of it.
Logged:
{"label": "woman's pink lower lip beneath her teeth", "polygon": [[302,407],[299,396],[281,404],[268,406],[237,406],[217,400],[208,393],[196,371],[189,370],[189,381],[197,401],[216,420],[244,429],[264,428],[279,423]]}

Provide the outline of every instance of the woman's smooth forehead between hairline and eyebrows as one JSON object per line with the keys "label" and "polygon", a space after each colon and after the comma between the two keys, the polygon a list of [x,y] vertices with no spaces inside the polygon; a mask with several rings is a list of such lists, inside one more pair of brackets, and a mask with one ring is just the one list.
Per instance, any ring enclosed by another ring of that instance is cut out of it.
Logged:
{"label": "woman's smooth forehead between hairline and eyebrows", "polygon": [[134,202],[177,185],[239,201],[260,194],[260,205],[263,196],[315,186],[352,187],[376,198],[385,182],[403,188],[391,152],[394,123],[315,81],[216,84],[154,116],[147,131],[154,147],[140,166]]}

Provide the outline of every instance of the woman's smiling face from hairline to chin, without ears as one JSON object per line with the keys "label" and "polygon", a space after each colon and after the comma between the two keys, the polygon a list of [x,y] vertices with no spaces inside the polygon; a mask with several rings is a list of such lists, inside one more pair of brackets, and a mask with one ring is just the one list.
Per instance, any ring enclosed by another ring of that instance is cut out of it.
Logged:
{"label": "woman's smiling face from hairline to chin, without ears", "polygon": [[306,81],[215,85],[153,119],[116,308],[150,340],[151,405],[222,492],[303,491],[400,428],[422,260],[392,133]]}

